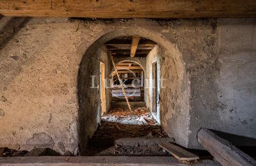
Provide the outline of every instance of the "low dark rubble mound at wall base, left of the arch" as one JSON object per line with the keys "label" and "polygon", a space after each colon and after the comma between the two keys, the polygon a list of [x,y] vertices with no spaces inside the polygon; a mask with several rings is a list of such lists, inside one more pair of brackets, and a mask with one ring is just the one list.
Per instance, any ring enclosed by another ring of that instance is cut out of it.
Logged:
{"label": "low dark rubble mound at wall base, left of the arch", "polygon": [[49,147],[35,148],[29,151],[25,156],[60,156],[60,153]]}

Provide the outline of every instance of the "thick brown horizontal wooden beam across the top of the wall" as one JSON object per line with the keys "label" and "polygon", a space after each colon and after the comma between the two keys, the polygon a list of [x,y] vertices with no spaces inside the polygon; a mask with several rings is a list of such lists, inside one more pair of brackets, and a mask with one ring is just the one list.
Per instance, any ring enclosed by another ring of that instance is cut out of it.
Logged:
{"label": "thick brown horizontal wooden beam across the top of the wall", "polygon": [[256,3],[255,0],[1,0],[0,13],[17,17],[255,17]]}

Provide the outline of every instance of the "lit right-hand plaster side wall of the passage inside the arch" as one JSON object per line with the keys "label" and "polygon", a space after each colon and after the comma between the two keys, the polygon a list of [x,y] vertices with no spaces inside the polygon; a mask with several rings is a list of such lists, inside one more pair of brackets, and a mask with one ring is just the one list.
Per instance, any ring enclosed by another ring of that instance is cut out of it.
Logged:
{"label": "lit right-hand plaster side wall of the passage inside the arch", "polygon": [[[187,144],[186,139],[180,138],[180,133],[185,133],[188,129],[189,119],[186,123],[179,121],[186,121],[184,119],[189,118],[188,112],[184,110],[184,107],[188,106],[182,103],[180,98],[186,98],[189,96],[189,89],[184,88],[180,91],[179,72],[175,67],[175,60],[172,54],[158,45],[154,47],[147,56],[146,61],[146,88],[145,89],[145,101],[147,107],[152,110],[152,62],[156,61],[159,73],[157,74],[160,79],[157,87],[157,91],[160,91],[160,121],[166,133],[169,137],[174,137],[175,141],[179,144]],[[189,101],[189,100],[188,100]],[[182,124],[182,125],[181,125]],[[183,141],[183,142],[182,142]]]}

